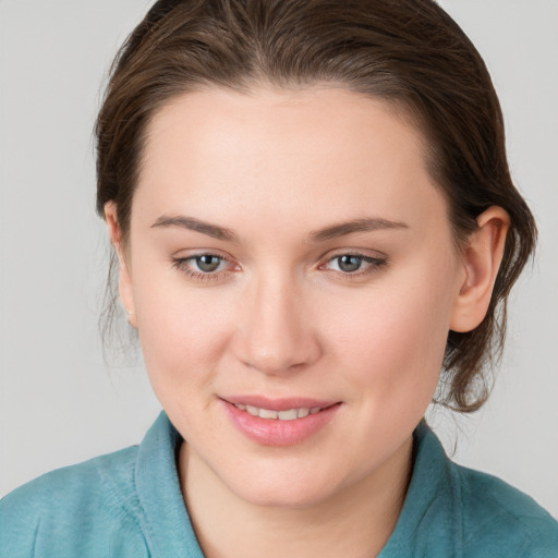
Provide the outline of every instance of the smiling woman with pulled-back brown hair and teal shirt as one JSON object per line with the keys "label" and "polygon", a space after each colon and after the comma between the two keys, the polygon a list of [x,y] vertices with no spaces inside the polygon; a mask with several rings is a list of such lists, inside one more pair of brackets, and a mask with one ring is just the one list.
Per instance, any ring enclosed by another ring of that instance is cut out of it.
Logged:
{"label": "smiling woman with pulled-back brown hair and teal shirt", "polygon": [[435,3],[157,2],[97,140],[165,413],[8,496],[2,553],[556,554],[557,523],[422,420],[485,401],[536,235],[486,69]]}

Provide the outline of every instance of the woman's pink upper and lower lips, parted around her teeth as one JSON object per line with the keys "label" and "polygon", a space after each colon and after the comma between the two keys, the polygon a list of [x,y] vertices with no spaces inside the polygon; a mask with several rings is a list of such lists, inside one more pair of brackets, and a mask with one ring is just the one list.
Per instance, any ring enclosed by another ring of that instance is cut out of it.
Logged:
{"label": "woman's pink upper and lower lips, parted around her teeth", "polygon": [[[322,430],[336,416],[342,405],[339,401],[308,398],[268,399],[258,396],[227,397],[227,399],[220,399],[220,403],[233,426],[247,439],[262,446],[302,444]],[[323,410],[292,421],[280,421],[278,418],[253,416],[236,408],[235,404],[247,404],[271,411],[316,407]]]}

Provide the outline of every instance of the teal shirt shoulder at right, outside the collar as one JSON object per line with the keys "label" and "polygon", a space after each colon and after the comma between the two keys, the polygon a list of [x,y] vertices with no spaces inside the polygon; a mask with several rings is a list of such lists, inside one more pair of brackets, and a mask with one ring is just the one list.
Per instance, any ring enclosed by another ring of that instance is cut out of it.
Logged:
{"label": "teal shirt shoulder at right, outside the collar", "polygon": [[460,480],[464,556],[558,556],[558,522],[504,481],[453,465]]}

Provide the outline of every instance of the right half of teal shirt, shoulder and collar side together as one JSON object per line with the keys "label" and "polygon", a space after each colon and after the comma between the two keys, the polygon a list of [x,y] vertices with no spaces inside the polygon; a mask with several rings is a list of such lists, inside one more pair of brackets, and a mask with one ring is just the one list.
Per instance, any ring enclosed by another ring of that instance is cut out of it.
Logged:
{"label": "right half of teal shirt, shoulder and collar side together", "polygon": [[504,481],[453,463],[423,422],[407,499],[381,556],[558,558],[558,523]]}

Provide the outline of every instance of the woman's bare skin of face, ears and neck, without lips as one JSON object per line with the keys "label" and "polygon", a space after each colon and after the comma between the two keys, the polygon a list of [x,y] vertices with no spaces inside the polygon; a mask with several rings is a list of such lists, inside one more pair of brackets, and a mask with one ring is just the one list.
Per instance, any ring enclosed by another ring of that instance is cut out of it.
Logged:
{"label": "woman's bare skin of face, ears and neck, without lips", "polygon": [[[486,313],[506,213],[488,209],[457,250],[420,132],[347,90],[204,89],[148,132],[126,246],[112,203],[106,216],[150,381],[187,440],[179,474],[204,553],[375,556],[448,331]],[[178,216],[235,239],[161,225]],[[399,226],[310,240],[367,218]],[[223,258],[205,278],[185,259],[202,254]],[[343,254],[371,259],[347,272]],[[341,405],[303,442],[274,447],[225,415],[220,398],[241,393]]]}

